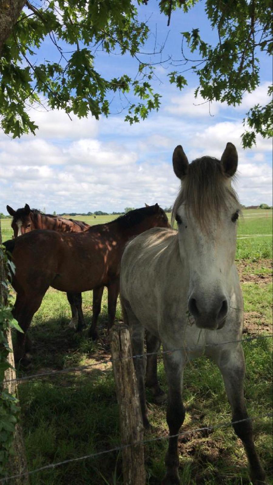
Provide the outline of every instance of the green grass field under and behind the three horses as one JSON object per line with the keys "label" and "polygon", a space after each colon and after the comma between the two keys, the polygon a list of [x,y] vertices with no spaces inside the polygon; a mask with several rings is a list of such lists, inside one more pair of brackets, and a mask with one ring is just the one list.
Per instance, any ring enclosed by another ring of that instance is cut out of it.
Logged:
{"label": "green grass field under and behind the three horses", "polygon": [[[76,218],[76,217],[75,217]],[[80,219],[80,217],[78,217]],[[84,218],[90,224],[107,222],[111,216]],[[11,237],[10,221],[1,221],[3,239]],[[238,237],[272,234],[272,211],[245,210]],[[244,294],[244,336],[272,332],[272,237],[238,239],[237,264]],[[104,293],[99,318],[101,338],[93,343],[67,328],[70,308],[64,293],[50,289],[30,327],[33,342],[28,375],[96,362],[110,357],[106,335],[107,299]],[[86,323],[91,321],[91,291],[83,294]],[[118,303],[116,319],[121,319]],[[272,339],[243,343],[246,359],[245,398],[251,416],[272,412]],[[158,364],[160,382],[166,389],[163,364]],[[44,377],[19,386],[22,425],[29,470],[49,463],[107,450],[120,444],[118,405],[110,364],[86,372],[68,372]],[[157,405],[147,393],[153,436],[167,436],[166,406]],[[183,431],[231,420],[222,378],[205,358],[186,368],[184,374],[186,419]],[[255,420],[256,446],[272,484],[272,419]],[[150,436],[149,436],[150,437]],[[164,476],[167,440],[145,446],[147,484]],[[231,427],[213,433],[190,434],[179,441],[180,476],[183,485],[249,484],[242,443]],[[30,476],[31,485],[123,484],[121,454],[76,461]],[[126,484],[123,484],[126,485]]]}

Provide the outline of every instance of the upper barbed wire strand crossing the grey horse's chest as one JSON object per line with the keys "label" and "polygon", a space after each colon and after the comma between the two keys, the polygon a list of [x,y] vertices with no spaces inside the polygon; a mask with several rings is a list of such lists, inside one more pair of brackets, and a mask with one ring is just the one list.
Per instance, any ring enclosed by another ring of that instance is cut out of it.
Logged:
{"label": "upper barbed wire strand crossing the grey horse's chest", "polygon": [[[237,308],[236,308],[237,309]],[[238,308],[240,310],[240,308]],[[8,382],[24,382],[24,381],[28,381],[30,379],[39,379],[40,377],[44,377],[44,376],[50,376],[50,375],[57,375],[57,374],[62,374],[62,373],[67,373],[67,372],[81,372],[81,371],[85,371],[85,370],[88,370],[90,369],[91,367],[95,367],[97,365],[102,365],[102,364],[109,364],[109,363],[113,363],[113,362],[118,362],[120,360],[128,360],[128,359],[137,359],[137,358],[140,358],[140,357],[147,357],[147,356],[163,356],[165,354],[172,354],[174,352],[181,352],[181,351],[188,351],[188,350],[197,350],[198,347],[202,347],[202,348],[205,348],[205,347],[216,347],[217,345],[227,345],[227,344],[231,344],[231,343],[240,343],[240,342],[248,342],[248,341],[252,341],[252,340],[262,340],[262,339],[272,339],[273,338],[273,335],[261,335],[261,336],[253,336],[253,337],[246,337],[245,339],[241,339],[241,340],[229,340],[227,342],[218,342],[218,343],[205,343],[204,345],[196,345],[195,347],[179,347],[177,349],[172,349],[172,350],[162,350],[162,351],[159,351],[159,352],[146,352],[145,354],[136,354],[134,356],[126,356],[126,357],[120,357],[120,358],[117,358],[117,359],[105,359],[105,360],[99,360],[98,362],[94,362],[93,364],[88,364],[88,365],[83,365],[83,366],[78,366],[78,367],[68,367],[67,369],[59,369],[59,370],[56,370],[56,371],[46,371],[46,372],[40,372],[38,374],[31,374],[31,375],[26,375],[26,376],[23,376],[23,377],[17,377],[15,379],[9,379],[9,380],[6,380],[4,381],[5,383],[8,383]]]}

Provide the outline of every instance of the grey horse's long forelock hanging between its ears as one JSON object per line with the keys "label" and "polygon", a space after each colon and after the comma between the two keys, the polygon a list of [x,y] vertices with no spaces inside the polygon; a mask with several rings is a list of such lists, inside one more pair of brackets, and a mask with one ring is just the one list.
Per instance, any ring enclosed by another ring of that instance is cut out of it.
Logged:
{"label": "grey horse's long forelock hanging between its ears", "polygon": [[178,208],[183,204],[186,213],[191,211],[198,224],[209,231],[212,217],[219,219],[220,213],[227,210],[232,200],[240,208],[236,192],[227,184],[221,162],[212,157],[196,159],[189,164],[182,188],[173,205],[172,225]]}

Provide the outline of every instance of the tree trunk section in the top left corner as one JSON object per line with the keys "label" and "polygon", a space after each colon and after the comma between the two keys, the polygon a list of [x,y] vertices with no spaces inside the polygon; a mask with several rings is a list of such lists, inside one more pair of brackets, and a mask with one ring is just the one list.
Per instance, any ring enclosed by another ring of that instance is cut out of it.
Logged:
{"label": "tree trunk section in the top left corner", "polygon": [[26,0],[0,0],[0,57]]}

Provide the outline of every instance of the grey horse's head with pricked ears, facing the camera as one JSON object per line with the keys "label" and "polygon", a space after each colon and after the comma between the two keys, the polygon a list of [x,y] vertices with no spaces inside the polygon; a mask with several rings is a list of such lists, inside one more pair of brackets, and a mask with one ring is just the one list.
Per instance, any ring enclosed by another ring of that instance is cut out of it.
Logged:
{"label": "grey horse's head with pricked ears, facing the camera", "polygon": [[238,154],[227,143],[221,160],[201,157],[189,163],[182,149],[173,153],[181,180],[172,220],[177,221],[183,272],[188,281],[188,310],[199,328],[225,324],[232,297],[240,204],[231,187]]}

